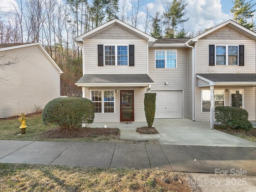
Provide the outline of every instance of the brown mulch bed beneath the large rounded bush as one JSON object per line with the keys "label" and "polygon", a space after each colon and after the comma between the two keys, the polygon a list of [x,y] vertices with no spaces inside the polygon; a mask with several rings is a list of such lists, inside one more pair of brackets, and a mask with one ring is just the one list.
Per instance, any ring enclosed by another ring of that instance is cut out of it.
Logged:
{"label": "brown mulch bed beneath the large rounded bush", "polygon": [[78,128],[74,131],[66,131],[60,127],[48,130],[43,134],[44,138],[81,138],[93,137],[96,135],[119,135],[118,128]]}

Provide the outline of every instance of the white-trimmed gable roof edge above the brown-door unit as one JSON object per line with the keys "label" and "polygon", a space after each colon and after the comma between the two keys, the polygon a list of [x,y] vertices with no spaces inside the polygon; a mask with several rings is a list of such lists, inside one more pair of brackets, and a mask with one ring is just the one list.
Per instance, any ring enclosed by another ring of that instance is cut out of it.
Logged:
{"label": "white-trimmed gable roof edge above the brown-door unit", "polygon": [[90,38],[90,37],[102,32],[114,25],[118,25],[118,26],[124,28],[125,30],[128,30],[129,32],[139,36],[140,38],[147,40],[150,46],[152,44],[154,44],[154,42],[156,41],[156,39],[154,37],[142,32],[142,31],[130,26],[129,24],[126,24],[125,22],[118,20],[118,19],[113,19],[109,22],[106,22],[106,23],[74,38],[74,40],[77,42],[78,46],[82,46],[84,39]]}

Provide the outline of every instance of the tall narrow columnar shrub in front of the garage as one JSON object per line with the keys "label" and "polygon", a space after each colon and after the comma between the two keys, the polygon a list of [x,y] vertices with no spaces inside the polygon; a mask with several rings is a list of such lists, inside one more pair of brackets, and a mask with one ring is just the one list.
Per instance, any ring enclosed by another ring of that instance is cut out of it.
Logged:
{"label": "tall narrow columnar shrub in front of the garage", "polygon": [[152,127],[156,112],[156,93],[145,93],[144,110],[148,127]]}

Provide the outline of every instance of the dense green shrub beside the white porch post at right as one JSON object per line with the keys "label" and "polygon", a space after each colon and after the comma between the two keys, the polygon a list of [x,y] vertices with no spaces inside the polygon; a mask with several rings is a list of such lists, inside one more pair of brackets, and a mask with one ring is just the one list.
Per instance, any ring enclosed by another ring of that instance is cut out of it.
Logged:
{"label": "dense green shrub beside the white porch post at right", "polygon": [[242,108],[218,106],[215,108],[216,122],[224,128],[250,130],[252,123],[248,121],[248,112]]}

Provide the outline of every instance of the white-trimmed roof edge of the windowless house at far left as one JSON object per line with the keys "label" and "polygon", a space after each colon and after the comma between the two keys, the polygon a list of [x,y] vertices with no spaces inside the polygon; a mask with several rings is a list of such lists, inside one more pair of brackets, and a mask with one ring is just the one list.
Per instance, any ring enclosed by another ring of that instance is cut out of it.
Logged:
{"label": "white-trimmed roof edge of the windowless house at far left", "polygon": [[50,57],[50,55],[46,52],[43,46],[40,43],[8,43],[8,44],[0,44],[0,52],[6,50],[12,50],[17,48],[23,48],[27,46],[38,46],[40,50],[44,53],[44,55],[50,60],[50,62],[54,65],[54,67],[59,71],[59,73],[63,73],[59,66],[54,62],[54,60]]}

